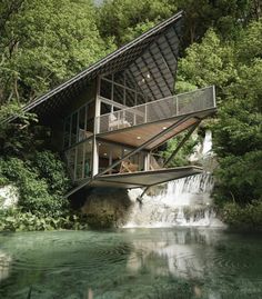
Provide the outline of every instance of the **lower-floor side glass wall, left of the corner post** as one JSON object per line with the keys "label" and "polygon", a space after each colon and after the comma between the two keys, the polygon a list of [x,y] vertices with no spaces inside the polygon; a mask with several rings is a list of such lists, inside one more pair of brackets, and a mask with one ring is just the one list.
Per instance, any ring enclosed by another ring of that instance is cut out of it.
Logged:
{"label": "lower-floor side glass wall, left of the corner post", "polygon": [[91,177],[92,140],[88,139],[66,151],[68,168],[73,181]]}

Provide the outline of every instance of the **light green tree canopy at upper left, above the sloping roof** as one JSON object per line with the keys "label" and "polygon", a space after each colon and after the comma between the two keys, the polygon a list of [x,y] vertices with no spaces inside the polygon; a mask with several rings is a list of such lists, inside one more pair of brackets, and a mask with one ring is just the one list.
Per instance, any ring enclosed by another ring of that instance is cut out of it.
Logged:
{"label": "light green tree canopy at upper left, above the sloping roof", "polygon": [[0,106],[29,101],[113,49],[95,24],[91,0],[4,0]]}

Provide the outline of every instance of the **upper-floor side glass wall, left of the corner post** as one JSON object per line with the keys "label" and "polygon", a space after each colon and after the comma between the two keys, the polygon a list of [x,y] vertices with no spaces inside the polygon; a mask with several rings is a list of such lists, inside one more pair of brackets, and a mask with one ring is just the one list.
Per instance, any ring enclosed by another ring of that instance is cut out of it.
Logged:
{"label": "upper-floor side glass wall, left of the corner post", "polygon": [[94,101],[85,103],[64,120],[63,148],[93,134],[94,127]]}

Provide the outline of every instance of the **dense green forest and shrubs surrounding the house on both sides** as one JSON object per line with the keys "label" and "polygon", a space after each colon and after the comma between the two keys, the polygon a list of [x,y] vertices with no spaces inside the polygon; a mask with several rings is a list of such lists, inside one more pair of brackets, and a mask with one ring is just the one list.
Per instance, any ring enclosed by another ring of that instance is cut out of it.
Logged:
{"label": "dense green forest and shrubs surrounding the house on both sides", "polygon": [[[230,225],[262,225],[260,0],[2,0],[0,122],[49,89],[184,11],[175,92],[215,84],[213,197]],[[34,126],[29,126],[33,123]],[[63,195],[70,180],[33,114],[0,127],[0,185],[20,188],[0,229],[82,228]],[[168,147],[171,147],[169,144]],[[187,155],[189,147],[182,151]],[[182,158],[181,158],[182,159]],[[183,159],[182,159],[183,160]]]}

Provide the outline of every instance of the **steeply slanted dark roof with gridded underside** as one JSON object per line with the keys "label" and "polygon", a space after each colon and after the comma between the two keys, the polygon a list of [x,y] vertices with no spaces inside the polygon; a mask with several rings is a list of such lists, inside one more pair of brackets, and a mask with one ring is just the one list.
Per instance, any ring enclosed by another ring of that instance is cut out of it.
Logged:
{"label": "steeply slanted dark roof with gridded underside", "polygon": [[[39,97],[22,110],[34,112],[40,119],[63,117],[72,98],[87,89],[88,82],[99,74],[125,70],[152,100],[173,93],[177,71],[182,12],[153,27],[82,72]],[[141,86],[142,84],[142,86]],[[8,119],[13,120],[16,117]]]}

